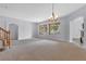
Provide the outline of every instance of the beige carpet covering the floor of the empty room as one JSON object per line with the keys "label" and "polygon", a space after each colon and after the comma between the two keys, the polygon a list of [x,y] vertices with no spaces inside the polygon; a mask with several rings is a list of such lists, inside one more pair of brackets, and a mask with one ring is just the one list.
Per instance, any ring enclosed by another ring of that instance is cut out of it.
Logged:
{"label": "beige carpet covering the floor of the empty room", "polygon": [[78,61],[86,60],[86,50],[71,42],[38,40],[0,52],[9,61]]}

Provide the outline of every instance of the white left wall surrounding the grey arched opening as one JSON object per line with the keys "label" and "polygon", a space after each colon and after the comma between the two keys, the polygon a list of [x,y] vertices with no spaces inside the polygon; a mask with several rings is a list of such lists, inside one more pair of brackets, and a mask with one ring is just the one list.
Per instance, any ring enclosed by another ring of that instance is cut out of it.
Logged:
{"label": "white left wall surrounding the grey arched opening", "polygon": [[19,39],[33,38],[33,28],[34,28],[33,24],[34,23],[1,16],[0,17],[0,24],[1,25],[3,24],[2,26],[7,25],[7,29],[9,28],[9,24],[16,24],[19,26]]}

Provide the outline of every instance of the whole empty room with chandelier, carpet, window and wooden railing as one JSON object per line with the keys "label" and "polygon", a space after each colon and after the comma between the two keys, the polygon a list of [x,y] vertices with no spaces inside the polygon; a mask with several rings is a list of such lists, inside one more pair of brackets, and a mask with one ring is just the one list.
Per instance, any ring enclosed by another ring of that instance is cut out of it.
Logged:
{"label": "whole empty room with chandelier, carpet, window and wooden railing", "polygon": [[0,3],[0,61],[86,61],[86,3]]}

